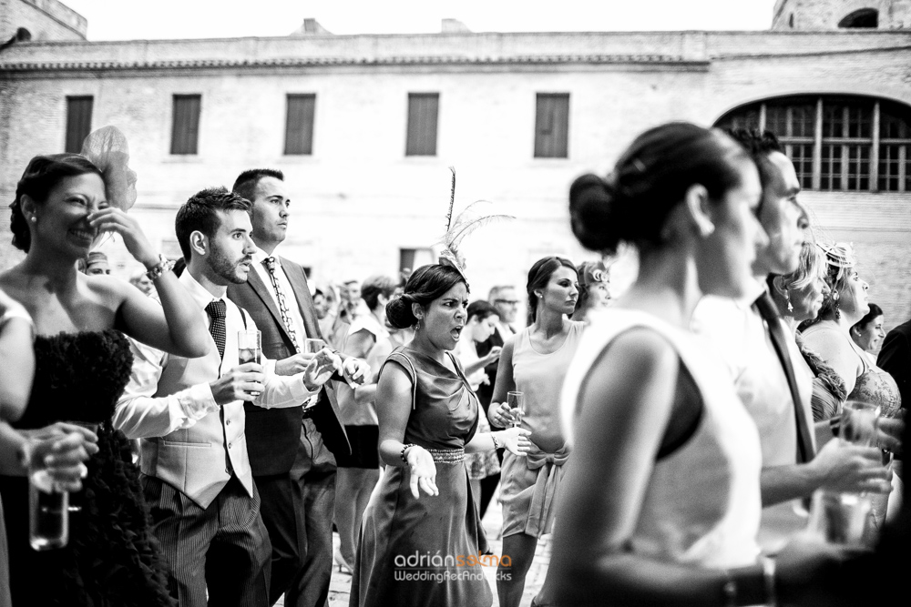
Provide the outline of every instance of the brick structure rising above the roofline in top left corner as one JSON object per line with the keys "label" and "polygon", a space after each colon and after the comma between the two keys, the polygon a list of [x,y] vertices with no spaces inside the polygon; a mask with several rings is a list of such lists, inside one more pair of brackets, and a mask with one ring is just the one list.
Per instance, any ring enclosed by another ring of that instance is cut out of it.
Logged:
{"label": "brick structure rising above the roofline in top left corner", "polygon": [[0,44],[19,27],[25,27],[36,41],[85,40],[88,22],[57,0],[0,0]]}

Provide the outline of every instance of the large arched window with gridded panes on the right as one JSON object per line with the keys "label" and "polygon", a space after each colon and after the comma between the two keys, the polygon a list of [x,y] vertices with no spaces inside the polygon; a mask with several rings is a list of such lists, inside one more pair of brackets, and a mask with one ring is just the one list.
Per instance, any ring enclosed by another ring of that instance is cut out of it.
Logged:
{"label": "large arched window with gridded panes on the right", "polygon": [[728,112],[724,128],[772,131],[804,189],[911,192],[911,106],[867,96],[787,96]]}

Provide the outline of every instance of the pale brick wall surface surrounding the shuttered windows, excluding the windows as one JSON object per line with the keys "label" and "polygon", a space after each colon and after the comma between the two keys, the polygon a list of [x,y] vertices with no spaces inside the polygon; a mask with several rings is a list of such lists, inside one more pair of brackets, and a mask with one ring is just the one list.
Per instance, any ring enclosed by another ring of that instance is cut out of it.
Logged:
{"label": "pale brick wall surface surrounding the shuttered windows, excluding the windows", "polygon": [[[911,33],[661,33],[619,35],[340,36],[285,39],[31,45],[0,56],[0,199],[12,199],[28,159],[64,145],[67,95],[95,96],[93,126],[128,136],[139,198],[131,211],[164,248],[175,247],[176,208],[202,187],[230,186],[241,170],[277,167],[292,191],[283,254],[317,279],[394,274],[399,248],[431,246],[442,232],[447,167],[456,199],[484,198],[517,220],[482,228],[465,243],[477,295],[524,285],[537,258],[583,252],[568,229],[568,185],[607,172],[632,137],[672,119],[709,125],[734,106],[794,93],[856,93],[911,104]],[[435,47],[441,46],[443,50]],[[467,56],[681,54],[690,62],[568,61],[527,64],[232,66],[132,71],[3,72],[4,62],[125,57]],[[890,49],[890,47],[893,47]],[[895,49],[895,47],[898,47]],[[539,52],[535,52],[535,49]],[[222,50],[220,50],[222,49]],[[872,49],[872,50],[864,50]],[[13,50],[13,49],[10,49]],[[850,51],[850,52],[844,52]],[[711,58],[711,61],[710,61]],[[404,157],[409,92],[440,93],[436,157]],[[533,157],[535,95],[570,94],[569,157]],[[200,154],[169,156],[171,96],[200,93]],[[312,157],[283,157],[285,96],[315,93]],[[889,326],[911,315],[911,193],[845,199],[808,193],[825,228],[858,245],[872,295]],[[857,228],[863,226],[860,234]],[[4,221],[0,229],[5,228]],[[851,237],[851,238],[847,238]],[[8,232],[0,233],[6,247]],[[127,274],[135,267],[107,243]],[[15,259],[0,248],[0,267]],[[880,296],[879,294],[882,293]]]}

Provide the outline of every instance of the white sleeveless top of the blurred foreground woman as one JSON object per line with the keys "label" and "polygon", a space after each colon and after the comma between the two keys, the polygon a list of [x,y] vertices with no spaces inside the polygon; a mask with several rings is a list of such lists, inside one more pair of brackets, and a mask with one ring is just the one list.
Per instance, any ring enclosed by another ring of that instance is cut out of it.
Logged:
{"label": "white sleeveless top of the blurred foreground woman", "polygon": [[629,329],[651,329],[666,339],[702,400],[693,435],[654,462],[630,541],[632,551],[710,568],[754,564],[759,555],[762,451],[756,425],[722,361],[701,338],[645,312],[599,310],[589,314],[589,321],[563,384],[561,414],[569,442],[578,391],[589,369]]}

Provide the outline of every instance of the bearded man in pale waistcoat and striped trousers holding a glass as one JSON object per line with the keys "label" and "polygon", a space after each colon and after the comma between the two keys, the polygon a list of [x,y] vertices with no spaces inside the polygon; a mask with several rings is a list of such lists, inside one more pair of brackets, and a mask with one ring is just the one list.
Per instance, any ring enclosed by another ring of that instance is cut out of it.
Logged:
{"label": "bearded man in pale waistcoat and striped trousers holding a glass", "polygon": [[239,364],[238,332],[256,326],[226,290],[251,269],[249,211],[247,200],[223,187],[180,207],[187,269],[179,280],[210,327],[210,350],[184,359],[134,343],[132,376],[114,415],[119,430],[140,440],[143,491],[181,607],[269,605],[271,544],[243,404],[298,407],[341,366],[328,349],[296,355],[310,360],[292,376],[276,375],[274,360]]}

